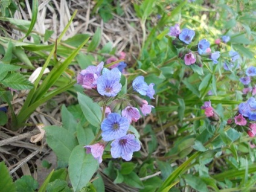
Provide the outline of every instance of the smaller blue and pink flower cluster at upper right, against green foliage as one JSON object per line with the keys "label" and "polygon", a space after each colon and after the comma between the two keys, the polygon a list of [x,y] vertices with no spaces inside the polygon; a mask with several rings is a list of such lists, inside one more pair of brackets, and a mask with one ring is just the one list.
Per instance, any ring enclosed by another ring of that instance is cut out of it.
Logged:
{"label": "smaller blue and pink flower cluster at upper right, against green foliage", "polygon": [[169,36],[176,37],[172,43],[176,48],[182,48],[179,52],[179,57],[184,60],[185,65],[196,64],[202,66],[202,58],[211,59],[214,64],[218,63],[217,59],[220,57],[220,52],[211,53],[210,42],[206,39],[200,40],[197,45],[187,48],[195,36],[195,32],[188,28],[180,30],[179,24],[170,27]]}

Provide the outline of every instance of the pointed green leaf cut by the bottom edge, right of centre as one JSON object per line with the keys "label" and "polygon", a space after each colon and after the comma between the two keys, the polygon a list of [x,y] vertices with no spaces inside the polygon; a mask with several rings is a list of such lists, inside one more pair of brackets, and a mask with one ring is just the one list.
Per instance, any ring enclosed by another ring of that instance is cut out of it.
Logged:
{"label": "pointed green leaf cut by the bottom edge, right of centre", "polygon": [[208,191],[207,185],[205,182],[203,182],[202,179],[200,179],[197,176],[193,176],[192,174],[185,174],[183,175],[185,181],[188,185],[190,185],[192,188],[194,188],[197,191],[206,192]]}

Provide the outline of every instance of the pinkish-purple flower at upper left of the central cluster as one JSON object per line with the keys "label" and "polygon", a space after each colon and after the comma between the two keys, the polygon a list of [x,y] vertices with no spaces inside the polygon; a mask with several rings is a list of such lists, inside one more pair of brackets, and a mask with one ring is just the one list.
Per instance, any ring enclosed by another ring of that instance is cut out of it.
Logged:
{"label": "pinkish-purple flower at upper left of the central cluster", "polygon": [[100,72],[103,69],[103,62],[97,66],[88,66],[77,75],[77,83],[85,89],[97,88],[97,79],[100,77]]}

